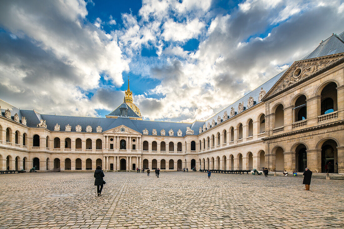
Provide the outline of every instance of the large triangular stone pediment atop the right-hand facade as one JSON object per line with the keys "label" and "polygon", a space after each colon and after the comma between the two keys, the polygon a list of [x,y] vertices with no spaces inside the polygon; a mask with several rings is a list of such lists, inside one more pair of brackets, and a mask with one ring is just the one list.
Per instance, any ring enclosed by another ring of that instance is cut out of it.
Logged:
{"label": "large triangular stone pediment atop the right-hand facade", "polygon": [[344,59],[344,54],[336,54],[328,57],[313,58],[308,60],[295,61],[289,69],[284,72],[282,77],[266,93],[263,100],[267,100],[273,95],[288,90],[298,83],[312,78],[318,73],[323,72],[330,66],[334,66]]}

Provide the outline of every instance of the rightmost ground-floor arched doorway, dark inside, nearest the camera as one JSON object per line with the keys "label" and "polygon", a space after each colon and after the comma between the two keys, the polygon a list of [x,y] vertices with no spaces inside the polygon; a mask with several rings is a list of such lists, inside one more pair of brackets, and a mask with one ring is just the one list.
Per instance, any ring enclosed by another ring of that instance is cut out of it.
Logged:
{"label": "rightmost ground-floor arched doorway, dark inside, nearest the camera", "polygon": [[329,139],[321,146],[321,172],[338,173],[337,143]]}

